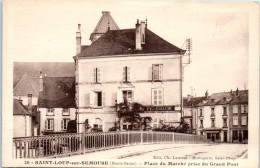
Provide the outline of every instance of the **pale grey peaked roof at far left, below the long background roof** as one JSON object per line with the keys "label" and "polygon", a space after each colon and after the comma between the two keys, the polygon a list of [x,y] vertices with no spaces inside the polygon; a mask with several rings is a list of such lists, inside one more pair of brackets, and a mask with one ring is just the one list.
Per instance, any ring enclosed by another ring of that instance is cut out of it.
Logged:
{"label": "pale grey peaked roof at far left, below the long background roof", "polygon": [[13,90],[14,96],[39,95],[39,79],[31,79],[26,73],[21,77]]}

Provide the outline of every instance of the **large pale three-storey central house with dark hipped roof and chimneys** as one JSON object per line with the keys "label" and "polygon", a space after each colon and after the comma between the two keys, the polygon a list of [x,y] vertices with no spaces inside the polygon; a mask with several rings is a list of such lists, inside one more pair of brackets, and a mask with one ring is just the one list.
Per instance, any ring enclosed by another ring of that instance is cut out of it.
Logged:
{"label": "large pale three-storey central house with dark hipped roof and chimneys", "polygon": [[[140,115],[151,117],[154,128],[160,123],[178,126],[185,50],[153,33],[144,21],[137,20],[131,29],[112,30],[111,23],[98,24],[96,29],[107,31],[84,48],[80,25],[76,32],[78,132],[114,127],[116,105],[123,100],[142,104]],[[129,123],[123,119],[120,123],[121,129],[128,129]]]}

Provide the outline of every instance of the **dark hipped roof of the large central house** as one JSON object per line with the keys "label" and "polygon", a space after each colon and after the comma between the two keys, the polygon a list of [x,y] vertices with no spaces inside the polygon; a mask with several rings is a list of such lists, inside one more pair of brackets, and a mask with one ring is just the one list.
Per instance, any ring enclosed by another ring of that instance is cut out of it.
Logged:
{"label": "dark hipped roof of the large central house", "polygon": [[142,50],[135,49],[135,29],[111,30],[82,50],[78,57],[104,55],[148,54],[148,53],[184,53],[165,41],[149,29],[145,29],[145,44]]}

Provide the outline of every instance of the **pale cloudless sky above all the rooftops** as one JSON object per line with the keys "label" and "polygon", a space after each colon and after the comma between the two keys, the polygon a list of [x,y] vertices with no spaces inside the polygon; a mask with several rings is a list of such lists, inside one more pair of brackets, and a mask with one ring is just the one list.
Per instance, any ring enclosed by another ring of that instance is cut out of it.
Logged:
{"label": "pale cloudless sky above all the rooftops", "polygon": [[137,19],[147,18],[148,29],[178,47],[192,38],[184,96],[248,89],[248,3],[8,0],[3,9],[4,57],[14,62],[73,62],[77,24],[82,44],[88,45],[102,11],[110,11],[120,29],[134,28]]}

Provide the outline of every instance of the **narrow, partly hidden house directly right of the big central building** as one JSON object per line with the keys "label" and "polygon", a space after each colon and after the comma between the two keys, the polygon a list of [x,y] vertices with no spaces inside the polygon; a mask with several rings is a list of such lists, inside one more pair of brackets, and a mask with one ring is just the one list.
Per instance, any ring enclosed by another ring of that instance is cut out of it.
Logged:
{"label": "narrow, partly hidden house directly right of the big central building", "polygon": [[206,100],[206,97],[193,97],[188,95],[187,97],[183,98],[183,118],[184,121],[189,124],[190,133],[196,134],[198,125],[197,104],[201,103],[203,100]]}

